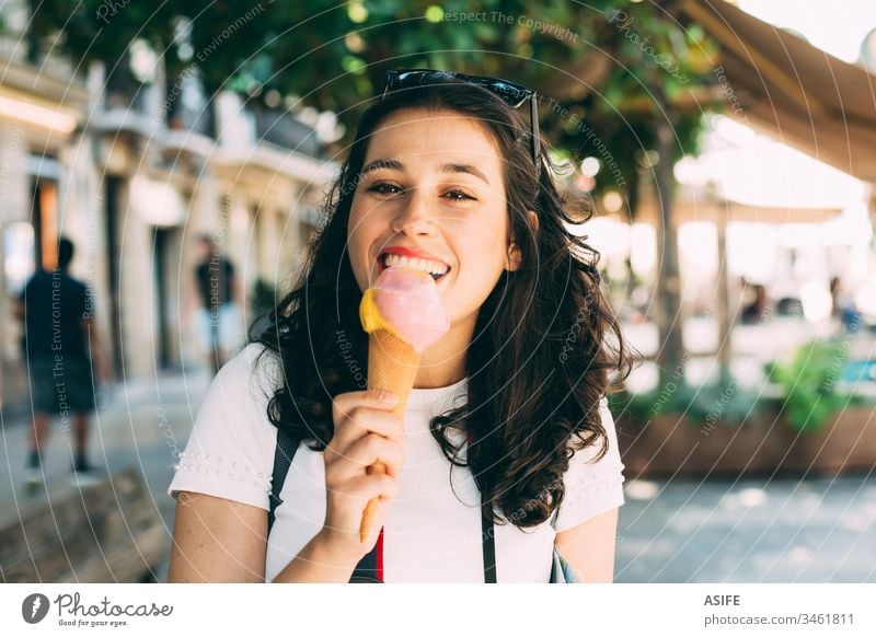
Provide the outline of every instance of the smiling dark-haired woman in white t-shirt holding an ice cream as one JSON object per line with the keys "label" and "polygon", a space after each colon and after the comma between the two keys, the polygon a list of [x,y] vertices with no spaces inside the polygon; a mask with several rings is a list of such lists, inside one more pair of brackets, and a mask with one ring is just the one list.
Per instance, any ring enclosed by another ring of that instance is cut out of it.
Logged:
{"label": "smiling dark-haired woman in white t-shirt holding an ice cream", "polygon": [[[566,228],[535,100],[502,80],[389,74],[300,283],[208,392],[170,487],[171,580],[546,582],[557,549],[583,580],[611,581],[623,477],[604,394],[629,364],[598,254]],[[451,327],[396,418],[397,396],[362,390],[357,311],[401,256],[433,274]],[[278,431],[293,456],[272,494]]]}

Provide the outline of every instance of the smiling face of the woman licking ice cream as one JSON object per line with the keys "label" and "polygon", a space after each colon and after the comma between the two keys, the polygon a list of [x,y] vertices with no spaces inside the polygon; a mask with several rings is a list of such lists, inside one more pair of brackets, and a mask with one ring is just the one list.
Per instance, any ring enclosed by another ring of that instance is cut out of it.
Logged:
{"label": "smiling face of the woman licking ice cream", "polygon": [[[350,210],[353,271],[367,289],[389,265],[433,273],[454,326],[473,328],[509,248],[503,160],[477,120],[405,109],[373,132]],[[401,262],[401,263],[400,263]]]}

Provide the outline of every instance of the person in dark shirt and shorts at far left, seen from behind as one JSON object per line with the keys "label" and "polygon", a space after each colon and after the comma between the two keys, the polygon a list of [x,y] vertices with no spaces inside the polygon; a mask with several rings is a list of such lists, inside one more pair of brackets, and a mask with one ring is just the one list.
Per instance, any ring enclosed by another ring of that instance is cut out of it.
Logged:
{"label": "person in dark shirt and shorts at far left, seen from behind", "polygon": [[15,304],[15,314],[24,324],[22,348],[34,415],[27,458],[28,487],[45,478],[42,452],[53,415],[60,416],[62,431],[69,430],[72,417],[72,484],[84,486],[96,479],[88,460],[89,417],[94,409],[92,371],[99,380],[106,380],[107,370],[94,328],[91,290],[68,273],[72,258],[73,243],[60,238],[57,269],[37,270]]}

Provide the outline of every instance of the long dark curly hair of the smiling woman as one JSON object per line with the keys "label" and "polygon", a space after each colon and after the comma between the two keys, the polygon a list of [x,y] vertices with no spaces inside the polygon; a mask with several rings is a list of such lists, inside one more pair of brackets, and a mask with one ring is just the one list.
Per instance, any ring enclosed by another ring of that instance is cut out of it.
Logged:
{"label": "long dark curly hair of the smiling woman", "polygon": [[[630,359],[600,289],[599,253],[566,225],[588,219],[591,209],[573,211],[553,183],[556,166],[546,146],[537,167],[528,123],[486,89],[447,79],[390,93],[364,114],[298,285],[251,328],[251,340],[266,346],[263,354],[276,352],[284,370],[268,418],[321,451],[334,432],[332,399],[362,389],[357,370],[368,343],[358,319],[362,294],[346,248],[347,223],[369,138],[404,108],[477,120],[505,161],[521,267],[502,275],[479,312],[465,362],[466,404],[433,418],[430,428],[451,464],[470,467],[497,523],[534,526],[563,501],[563,475],[575,451],[597,444],[598,458],[604,455],[599,402],[610,389],[610,372],[625,378]],[[469,440],[464,460],[451,429]]]}

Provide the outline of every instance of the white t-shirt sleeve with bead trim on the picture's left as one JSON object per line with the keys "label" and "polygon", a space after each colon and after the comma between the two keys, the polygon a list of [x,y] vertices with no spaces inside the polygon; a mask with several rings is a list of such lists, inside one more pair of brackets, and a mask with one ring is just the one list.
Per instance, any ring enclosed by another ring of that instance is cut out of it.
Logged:
{"label": "white t-shirt sleeve with bead trim on the picture's left", "polygon": [[277,430],[267,419],[267,385],[254,377],[267,367],[254,371],[261,350],[250,345],[210,383],[168,489],[172,497],[196,491],[269,509]]}

